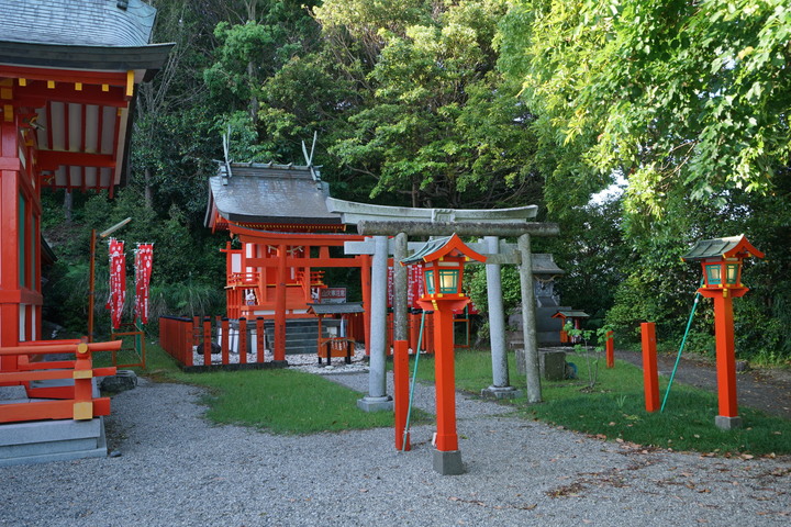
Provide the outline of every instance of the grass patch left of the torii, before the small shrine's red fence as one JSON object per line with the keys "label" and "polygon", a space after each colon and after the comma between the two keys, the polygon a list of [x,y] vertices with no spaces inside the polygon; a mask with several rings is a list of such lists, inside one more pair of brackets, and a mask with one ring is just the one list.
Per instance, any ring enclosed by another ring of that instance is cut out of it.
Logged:
{"label": "grass patch left of the torii, before the small shrine's red fence", "polygon": [[[275,434],[315,434],[393,426],[392,412],[357,408],[361,393],[293,369],[183,373],[159,346],[147,348],[147,370],[154,380],[181,382],[209,390],[201,402],[218,424],[238,424]],[[427,414],[413,412],[413,423]]]}

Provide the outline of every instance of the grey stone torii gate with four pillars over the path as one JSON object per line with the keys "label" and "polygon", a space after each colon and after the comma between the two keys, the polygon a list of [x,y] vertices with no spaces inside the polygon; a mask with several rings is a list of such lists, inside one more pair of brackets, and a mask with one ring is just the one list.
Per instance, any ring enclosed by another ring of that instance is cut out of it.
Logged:
{"label": "grey stone torii gate with four pillars over the path", "polygon": [[[367,412],[391,410],[392,399],[387,395],[387,272],[388,255],[396,261],[424,244],[410,247],[412,236],[482,236],[482,243],[468,246],[487,257],[487,284],[490,317],[493,383],[484,395],[512,397],[516,390],[509,384],[505,354],[505,316],[502,306],[500,266],[519,265],[522,293],[522,325],[526,362],[527,400],[542,400],[536,341],[535,300],[533,298],[532,236],[555,236],[559,228],[554,223],[528,222],[535,217],[536,205],[494,210],[413,209],[372,205],[328,198],[327,209],[339,213],[345,224],[357,225],[361,235],[372,236],[371,242],[347,242],[346,254],[372,254],[371,269],[371,332],[369,343],[370,371],[368,395],[358,401]],[[389,236],[394,236],[391,240]],[[517,236],[519,243],[504,244],[499,237]],[[393,266],[393,339],[406,340],[406,269]]]}

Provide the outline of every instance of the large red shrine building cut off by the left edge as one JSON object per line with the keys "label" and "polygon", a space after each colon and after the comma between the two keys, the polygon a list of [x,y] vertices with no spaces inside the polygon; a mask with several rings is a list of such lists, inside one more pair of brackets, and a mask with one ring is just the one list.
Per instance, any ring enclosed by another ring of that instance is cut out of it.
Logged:
{"label": "large red shrine building cut off by the left edge", "polygon": [[[91,397],[90,352],[110,345],[42,340],[41,191],[112,194],[124,183],[137,86],[171,45],[149,44],[156,10],[140,0],[0,0],[0,386],[64,399],[2,404],[0,423],[91,418],[109,401]],[[64,351],[76,354],[58,363],[77,363],[65,375],[75,386],[35,392],[34,381],[66,370],[43,371],[31,357]]]}

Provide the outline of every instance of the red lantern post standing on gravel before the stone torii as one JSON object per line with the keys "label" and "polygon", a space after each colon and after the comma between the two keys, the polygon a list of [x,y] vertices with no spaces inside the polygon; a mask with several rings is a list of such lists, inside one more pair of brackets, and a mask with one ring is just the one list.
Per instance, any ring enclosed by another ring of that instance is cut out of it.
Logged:
{"label": "red lantern post standing on gravel before the stone torii", "polygon": [[453,235],[426,243],[401,265],[423,267],[425,294],[417,301],[425,311],[434,312],[434,375],[436,390],[437,433],[434,470],[443,475],[464,472],[456,433],[456,374],[454,363],[454,311],[463,310],[469,298],[461,292],[464,265],[486,257],[467,247]]}

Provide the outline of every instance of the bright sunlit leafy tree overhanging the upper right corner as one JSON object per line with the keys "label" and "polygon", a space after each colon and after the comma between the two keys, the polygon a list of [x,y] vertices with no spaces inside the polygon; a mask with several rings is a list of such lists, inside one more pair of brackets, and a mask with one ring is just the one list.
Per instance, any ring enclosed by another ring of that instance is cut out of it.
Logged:
{"label": "bright sunlit leafy tree overhanging the upper right corner", "polygon": [[770,191],[791,160],[790,35],[784,0],[523,0],[501,65],[564,150],[555,184],[620,172],[627,211],[656,216],[675,193]]}

